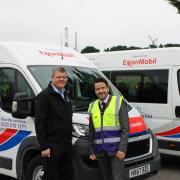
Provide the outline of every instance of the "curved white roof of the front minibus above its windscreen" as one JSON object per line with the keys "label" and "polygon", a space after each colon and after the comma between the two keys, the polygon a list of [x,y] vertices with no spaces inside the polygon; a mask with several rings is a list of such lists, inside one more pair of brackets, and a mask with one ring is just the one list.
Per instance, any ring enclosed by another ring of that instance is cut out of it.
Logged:
{"label": "curved white roof of the front minibus above its windscreen", "polygon": [[0,42],[0,63],[95,67],[71,48],[34,42]]}

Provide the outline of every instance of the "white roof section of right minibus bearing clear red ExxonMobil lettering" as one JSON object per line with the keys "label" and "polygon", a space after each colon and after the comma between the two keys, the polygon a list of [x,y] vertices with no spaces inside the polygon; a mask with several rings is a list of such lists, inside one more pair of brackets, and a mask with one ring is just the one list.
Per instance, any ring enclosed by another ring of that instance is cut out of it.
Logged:
{"label": "white roof section of right minibus bearing clear red ExxonMobil lettering", "polygon": [[100,70],[180,65],[178,47],[89,53],[85,56]]}

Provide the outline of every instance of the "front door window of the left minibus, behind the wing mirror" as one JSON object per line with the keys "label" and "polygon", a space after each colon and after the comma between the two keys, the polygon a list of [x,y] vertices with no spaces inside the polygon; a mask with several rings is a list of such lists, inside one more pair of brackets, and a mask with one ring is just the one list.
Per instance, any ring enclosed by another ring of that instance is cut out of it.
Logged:
{"label": "front door window of the left minibus, behind the wing mirror", "polygon": [[28,97],[33,96],[29,84],[20,72],[12,68],[0,68],[0,108],[11,112],[12,101],[17,92],[26,92]]}

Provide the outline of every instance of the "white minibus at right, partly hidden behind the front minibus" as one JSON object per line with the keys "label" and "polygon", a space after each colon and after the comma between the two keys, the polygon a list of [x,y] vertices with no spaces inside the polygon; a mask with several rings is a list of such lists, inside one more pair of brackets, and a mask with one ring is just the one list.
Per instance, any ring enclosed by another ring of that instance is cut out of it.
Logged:
{"label": "white minibus at right, partly hidden behind the front minibus", "polygon": [[159,151],[180,156],[180,48],[86,54],[145,118]]}

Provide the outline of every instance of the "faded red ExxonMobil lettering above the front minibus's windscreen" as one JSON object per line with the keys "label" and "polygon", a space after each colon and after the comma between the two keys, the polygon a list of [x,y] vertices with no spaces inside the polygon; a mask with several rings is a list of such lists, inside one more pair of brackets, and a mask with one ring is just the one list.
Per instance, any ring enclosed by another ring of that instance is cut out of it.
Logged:
{"label": "faded red ExxonMobil lettering above the front minibus's windscreen", "polygon": [[42,51],[39,50],[39,53],[43,56],[49,56],[49,57],[55,57],[55,56],[60,56],[60,57],[75,57],[74,54],[72,53],[63,53],[63,52],[58,52],[58,51]]}

